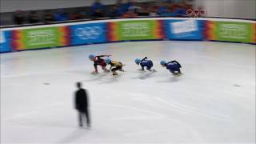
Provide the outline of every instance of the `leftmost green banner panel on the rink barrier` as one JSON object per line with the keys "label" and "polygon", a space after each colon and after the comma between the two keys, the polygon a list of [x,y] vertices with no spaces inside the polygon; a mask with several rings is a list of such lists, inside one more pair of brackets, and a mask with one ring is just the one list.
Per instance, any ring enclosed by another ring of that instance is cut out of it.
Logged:
{"label": "leftmost green banner panel on the rink barrier", "polygon": [[60,37],[58,27],[22,30],[22,42],[26,50],[60,46]]}

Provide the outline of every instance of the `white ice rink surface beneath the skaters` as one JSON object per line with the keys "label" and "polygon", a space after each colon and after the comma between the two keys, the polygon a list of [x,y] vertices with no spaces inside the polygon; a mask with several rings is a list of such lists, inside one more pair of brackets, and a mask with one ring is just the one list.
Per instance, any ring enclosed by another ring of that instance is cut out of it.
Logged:
{"label": "white ice rink surface beneath the skaters", "polygon": [[[92,75],[89,54],[126,63]],[[147,56],[156,73],[138,71]],[[177,60],[182,76],[160,66]],[[90,93],[78,127],[75,82]],[[255,46],[120,42],[1,54],[1,143],[255,143]]]}

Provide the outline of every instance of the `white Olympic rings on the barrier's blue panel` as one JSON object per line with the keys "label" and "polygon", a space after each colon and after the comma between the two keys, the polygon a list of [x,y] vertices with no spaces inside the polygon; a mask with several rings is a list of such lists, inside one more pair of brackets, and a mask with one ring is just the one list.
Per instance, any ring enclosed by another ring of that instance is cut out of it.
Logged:
{"label": "white Olympic rings on the barrier's blue panel", "polygon": [[103,30],[100,26],[83,27],[74,30],[74,34],[81,39],[95,39],[98,38],[102,32]]}

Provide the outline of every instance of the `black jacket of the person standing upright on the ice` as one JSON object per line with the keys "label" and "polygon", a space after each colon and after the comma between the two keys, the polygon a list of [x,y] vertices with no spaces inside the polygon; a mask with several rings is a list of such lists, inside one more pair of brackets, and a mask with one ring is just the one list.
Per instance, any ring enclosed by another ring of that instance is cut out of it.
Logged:
{"label": "black jacket of the person standing upright on the ice", "polygon": [[79,89],[75,92],[75,108],[77,110],[86,110],[89,106],[88,95],[86,90]]}

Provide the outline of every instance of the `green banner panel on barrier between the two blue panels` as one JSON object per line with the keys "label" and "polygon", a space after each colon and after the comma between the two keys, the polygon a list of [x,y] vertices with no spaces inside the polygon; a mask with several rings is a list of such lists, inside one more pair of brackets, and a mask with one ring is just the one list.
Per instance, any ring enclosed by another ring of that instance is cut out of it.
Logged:
{"label": "green banner panel on barrier between the two blue panels", "polygon": [[118,40],[155,39],[156,21],[124,21],[117,23]]}

